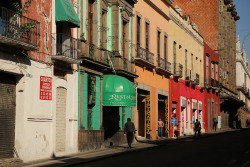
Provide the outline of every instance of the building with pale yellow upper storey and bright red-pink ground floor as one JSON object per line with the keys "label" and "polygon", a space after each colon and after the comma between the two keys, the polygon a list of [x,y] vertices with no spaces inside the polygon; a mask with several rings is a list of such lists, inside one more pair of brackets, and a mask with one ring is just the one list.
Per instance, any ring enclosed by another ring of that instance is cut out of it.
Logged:
{"label": "building with pale yellow upper storey and bright red-pink ground floor", "polygon": [[[170,79],[170,111],[178,126],[170,126],[170,136],[193,134],[198,119],[204,131],[204,47],[203,37],[190,18],[183,17],[181,8],[170,8],[169,61],[173,76]],[[173,134],[173,132],[175,132]]]}

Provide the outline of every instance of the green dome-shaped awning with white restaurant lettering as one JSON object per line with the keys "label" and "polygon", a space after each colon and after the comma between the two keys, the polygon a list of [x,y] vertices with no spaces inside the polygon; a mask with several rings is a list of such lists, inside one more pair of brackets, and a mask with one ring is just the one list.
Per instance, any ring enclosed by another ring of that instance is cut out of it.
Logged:
{"label": "green dome-shaped awning with white restaurant lettering", "polygon": [[136,106],[134,85],[124,77],[105,75],[102,104],[104,106]]}

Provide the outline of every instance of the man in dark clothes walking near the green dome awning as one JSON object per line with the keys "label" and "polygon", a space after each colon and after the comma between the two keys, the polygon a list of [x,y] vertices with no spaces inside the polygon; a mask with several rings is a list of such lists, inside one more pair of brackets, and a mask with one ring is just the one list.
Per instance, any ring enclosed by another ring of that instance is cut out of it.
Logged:
{"label": "man in dark clothes walking near the green dome awning", "polygon": [[124,127],[124,136],[127,135],[128,147],[131,148],[132,141],[134,139],[135,125],[130,118],[127,119]]}

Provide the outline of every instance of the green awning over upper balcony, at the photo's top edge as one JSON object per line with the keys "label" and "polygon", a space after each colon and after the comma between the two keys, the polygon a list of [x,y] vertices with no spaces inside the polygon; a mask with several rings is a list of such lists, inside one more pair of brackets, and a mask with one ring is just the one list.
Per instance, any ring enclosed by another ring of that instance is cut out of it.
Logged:
{"label": "green awning over upper balcony, at the photo's top edge", "polygon": [[71,23],[70,27],[80,27],[80,19],[70,0],[56,0],[56,21]]}

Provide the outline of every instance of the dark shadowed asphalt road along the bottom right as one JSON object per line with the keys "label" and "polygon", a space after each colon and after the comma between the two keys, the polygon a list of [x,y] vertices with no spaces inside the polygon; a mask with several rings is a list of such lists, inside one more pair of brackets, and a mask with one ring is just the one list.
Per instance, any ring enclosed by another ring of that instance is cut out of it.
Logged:
{"label": "dark shadowed asphalt road along the bottom right", "polygon": [[76,167],[250,167],[250,129],[161,145]]}

